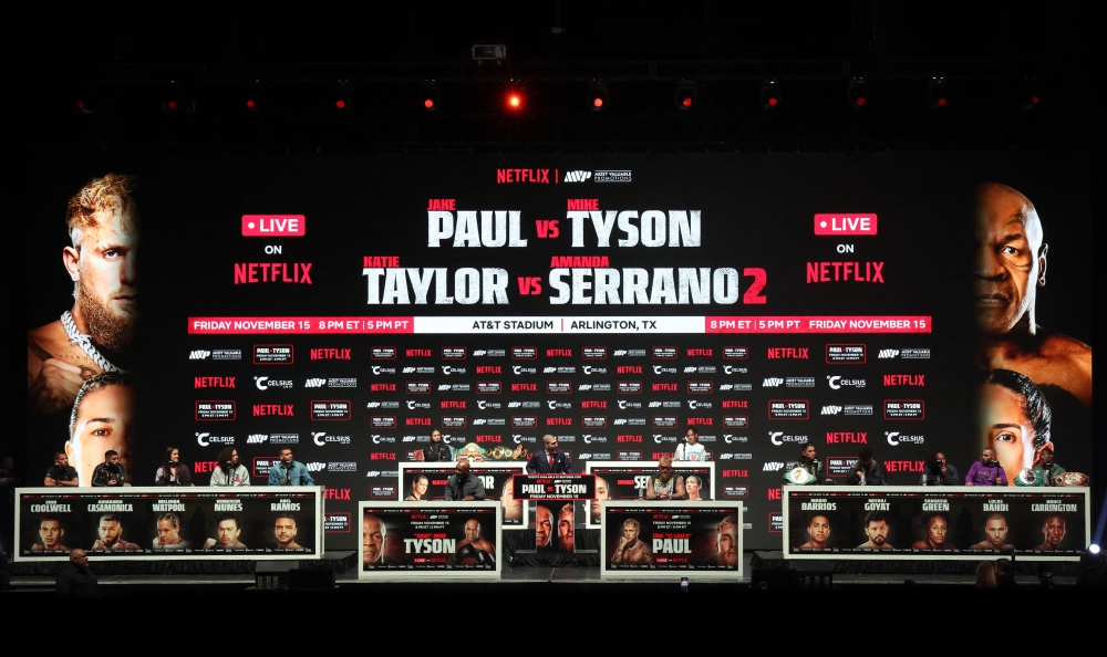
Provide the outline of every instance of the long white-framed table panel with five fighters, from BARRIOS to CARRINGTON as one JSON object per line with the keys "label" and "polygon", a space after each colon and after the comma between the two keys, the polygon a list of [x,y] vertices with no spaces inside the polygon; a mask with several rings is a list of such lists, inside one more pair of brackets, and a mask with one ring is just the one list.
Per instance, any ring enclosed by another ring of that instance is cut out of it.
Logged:
{"label": "long white-framed table panel with five fighters, from BARRIOS to CARRINGTON", "polygon": [[1082,487],[784,487],[787,559],[1078,561]]}

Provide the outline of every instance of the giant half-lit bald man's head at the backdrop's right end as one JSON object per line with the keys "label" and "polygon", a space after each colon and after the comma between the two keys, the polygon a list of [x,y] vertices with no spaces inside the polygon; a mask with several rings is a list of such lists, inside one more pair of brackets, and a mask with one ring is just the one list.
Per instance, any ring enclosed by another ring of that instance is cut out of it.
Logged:
{"label": "giant half-lit bald man's head at the backdrop's right end", "polygon": [[1045,285],[1048,250],[1034,204],[1006,185],[981,185],[973,234],[977,326],[990,335],[1033,334],[1036,290]]}

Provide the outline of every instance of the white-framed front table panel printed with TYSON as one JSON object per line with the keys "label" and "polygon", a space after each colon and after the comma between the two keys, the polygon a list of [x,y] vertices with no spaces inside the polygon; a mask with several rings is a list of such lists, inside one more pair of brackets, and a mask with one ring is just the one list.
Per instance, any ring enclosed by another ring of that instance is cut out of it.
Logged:
{"label": "white-framed front table panel printed with TYSON", "polygon": [[497,578],[498,502],[359,502],[361,572],[379,578]]}

